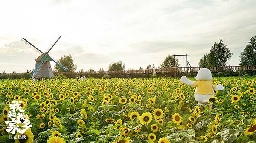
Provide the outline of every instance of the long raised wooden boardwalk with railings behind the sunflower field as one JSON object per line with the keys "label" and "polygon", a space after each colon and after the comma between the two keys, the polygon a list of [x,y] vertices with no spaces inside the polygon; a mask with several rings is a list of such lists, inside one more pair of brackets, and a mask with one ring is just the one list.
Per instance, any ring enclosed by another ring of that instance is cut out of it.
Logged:
{"label": "long raised wooden boardwalk with railings behind the sunflower field", "polygon": [[[153,77],[153,74],[157,77],[180,77],[182,74],[197,73],[198,70],[204,67],[173,67],[173,68],[159,68],[159,69],[145,69],[145,70],[123,70],[123,71],[104,71],[104,72],[63,72],[62,74],[69,77],[75,78],[76,76],[96,77],[101,78],[104,75],[112,77]],[[256,72],[256,66],[225,66],[225,67],[206,67],[211,70],[212,73],[217,73],[218,79],[220,73],[239,73],[241,79],[242,73]],[[57,75],[58,73],[54,73]],[[23,78],[24,73],[0,73],[0,79],[16,79]]]}

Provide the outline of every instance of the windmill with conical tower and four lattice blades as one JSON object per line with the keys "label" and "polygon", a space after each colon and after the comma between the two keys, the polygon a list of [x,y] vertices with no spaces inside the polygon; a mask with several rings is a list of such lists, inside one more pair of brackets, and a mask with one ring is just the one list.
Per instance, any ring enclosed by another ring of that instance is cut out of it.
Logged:
{"label": "windmill with conical tower and four lattice blades", "polygon": [[[61,36],[57,39],[57,41],[52,45],[52,47],[58,42],[58,40],[61,38]],[[61,63],[56,62],[57,60],[53,58],[52,56],[49,56],[49,51],[52,50],[52,47],[49,48],[49,50],[45,53],[43,53],[41,50],[36,48],[34,45],[32,45],[29,41],[27,41],[25,38],[22,38],[21,41],[25,43],[27,46],[35,50],[37,53],[40,54],[38,58],[35,59],[35,70],[31,73],[31,77],[34,78],[36,76],[47,76],[47,77],[53,77],[53,72],[51,68],[50,61],[55,62],[58,64],[61,68],[63,68],[65,71],[68,70],[66,66],[64,66]]]}

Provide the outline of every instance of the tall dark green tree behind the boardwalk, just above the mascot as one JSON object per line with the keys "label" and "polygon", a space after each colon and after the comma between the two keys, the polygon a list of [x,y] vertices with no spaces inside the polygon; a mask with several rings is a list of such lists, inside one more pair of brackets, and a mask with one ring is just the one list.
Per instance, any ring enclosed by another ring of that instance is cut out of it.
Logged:
{"label": "tall dark green tree behind the boardwalk, just above the mascot", "polygon": [[221,39],[219,43],[215,42],[208,54],[208,66],[224,67],[227,64],[227,61],[231,58],[232,54],[233,53],[230,52]]}

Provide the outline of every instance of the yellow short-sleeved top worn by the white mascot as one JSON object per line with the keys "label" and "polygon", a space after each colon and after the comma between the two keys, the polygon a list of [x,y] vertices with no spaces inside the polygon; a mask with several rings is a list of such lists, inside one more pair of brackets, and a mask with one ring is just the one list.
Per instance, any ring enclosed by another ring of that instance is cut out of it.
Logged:
{"label": "yellow short-sleeved top worn by the white mascot", "polygon": [[211,81],[194,81],[193,86],[196,87],[195,94],[212,95],[214,94],[214,85]]}

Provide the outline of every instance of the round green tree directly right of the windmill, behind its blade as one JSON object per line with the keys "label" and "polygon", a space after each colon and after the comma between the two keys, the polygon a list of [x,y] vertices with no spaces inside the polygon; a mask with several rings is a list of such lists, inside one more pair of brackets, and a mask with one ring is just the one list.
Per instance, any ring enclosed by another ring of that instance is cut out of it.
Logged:
{"label": "round green tree directly right of the windmill, behind its blade", "polygon": [[[74,63],[74,59],[72,58],[71,55],[64,55],[64,57],[61,57],[61,59],[58,59],[57,61],[59,64],[64,64],[67,68],[68,71],[70,72],[74,72],[76,70],[76,64]],[[55,64],[54,66],[54,70],[56,72],[64,72],[65,70],[63,70],[58,64]]]}

